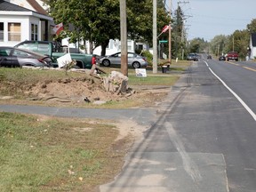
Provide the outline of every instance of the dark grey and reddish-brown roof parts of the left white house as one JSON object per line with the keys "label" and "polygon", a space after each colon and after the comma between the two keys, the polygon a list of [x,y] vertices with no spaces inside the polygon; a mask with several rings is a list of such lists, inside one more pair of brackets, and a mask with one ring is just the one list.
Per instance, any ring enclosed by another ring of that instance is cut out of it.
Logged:
{"label": "dark grey and reddish-brown roof parts of the left white house", "polygon": [[[44,8],[38,4],[35,0],[27,0],[28,4],[30,4],[37,13],[47,15]],[[0,11],[5,12],[34,12],[25,7],[19,6],[17,4],[11,4],[9,2],[5,2],[4,0],[0,0]]]}

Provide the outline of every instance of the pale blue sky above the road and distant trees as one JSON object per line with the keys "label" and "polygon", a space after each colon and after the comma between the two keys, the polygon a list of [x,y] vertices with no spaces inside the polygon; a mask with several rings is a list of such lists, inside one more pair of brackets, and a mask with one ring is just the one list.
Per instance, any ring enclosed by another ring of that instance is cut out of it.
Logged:
{"label": "pale blue sky above the road and distant trees", "polygon": [[166,0],[166,8],[170,10],[172,3],[173,13],[178,2],[186,18],[188,40],[232,35],[256,19],[256,0]]}

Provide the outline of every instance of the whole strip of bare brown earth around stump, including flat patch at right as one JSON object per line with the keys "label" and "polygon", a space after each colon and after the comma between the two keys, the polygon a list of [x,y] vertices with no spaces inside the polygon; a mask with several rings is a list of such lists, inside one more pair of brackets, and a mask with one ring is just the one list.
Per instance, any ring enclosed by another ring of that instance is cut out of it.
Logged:
{"label": "whole strip of bare brown earth around stump, including flat patch at right", "polygon": [[[37,84],[1,84],[0,89],[17,90],[22,96],[22,100],[13,100],[12,95],[0,95],[0,101],[12,100],[12,102],[24,103],[42,101],[43,104],[55,105],[84,105],[95,104],[101,105],[109,101],[133,100],[140,107],[154,106],[156,102],[161,101],[167,92],[170,91],[168,86],[157,85],[127,85],[127,91],[111,92],[106,91],[103,80],[93,77],[84,76],[76,78],[65,78],[57,80],[44,80]],[[25,97],[25,99],[24,99]]]}

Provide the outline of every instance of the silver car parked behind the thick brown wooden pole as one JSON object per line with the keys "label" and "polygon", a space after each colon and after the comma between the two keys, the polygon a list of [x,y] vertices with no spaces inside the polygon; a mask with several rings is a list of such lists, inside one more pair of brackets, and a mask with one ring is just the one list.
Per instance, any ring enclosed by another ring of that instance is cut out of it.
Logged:
{"label": "silver car parked behind the thick brown wooden pole", "polygon": [[[146,58],[135,52],[128,52],[127,57],[128,66],[132,68],[141,68],[148,66],[148,61],[146,60]],[[101,57],[100,64],[105,67],[109,67],[110,65],[121,65],[121,52],[116,52],[115,54]]]}

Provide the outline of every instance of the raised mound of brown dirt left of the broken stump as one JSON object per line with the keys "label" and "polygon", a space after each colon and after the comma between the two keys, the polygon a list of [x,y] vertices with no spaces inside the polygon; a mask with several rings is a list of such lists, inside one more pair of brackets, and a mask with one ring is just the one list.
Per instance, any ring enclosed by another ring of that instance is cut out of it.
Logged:
{"label": "raised mound of brown dirt left of the broken stump", "polygon": [[125,100],[131,97],[130,91],[126,94],[107,92],[102,80],[93,78],[67,78],[56,81],[44,81],[31,86],[28,92],[30,97],[38,100],[69,100],[69,101],[95,101],[95,100]]}

